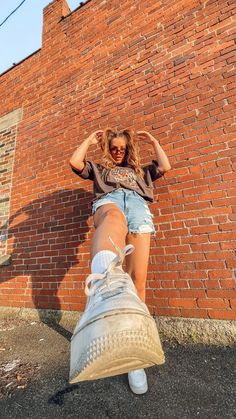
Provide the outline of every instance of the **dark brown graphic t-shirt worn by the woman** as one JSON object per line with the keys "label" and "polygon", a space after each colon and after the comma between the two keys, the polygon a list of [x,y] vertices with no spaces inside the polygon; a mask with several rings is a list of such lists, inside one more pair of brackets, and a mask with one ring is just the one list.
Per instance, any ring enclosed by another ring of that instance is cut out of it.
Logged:
{"label": "dark brown graphic t-shirt worn by the woman", "polygon": [[89,160],[84,160],[82,171],[72,166],[71,169],[81,178],[93,181],[95,196],[93,202],[118,188],[133,190],[147,201],[153,202],[153,181],[163,176],[156,160],[152,160],[150,165],[143,167],[143,179],[131,167],[115,166],[112,169],[106,169],[101,164]]}

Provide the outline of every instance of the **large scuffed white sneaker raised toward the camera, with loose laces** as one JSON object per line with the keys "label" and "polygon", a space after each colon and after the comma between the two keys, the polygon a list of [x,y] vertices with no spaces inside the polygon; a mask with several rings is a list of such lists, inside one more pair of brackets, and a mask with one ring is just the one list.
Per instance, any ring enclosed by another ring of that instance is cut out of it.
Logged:
{"label": "large scuffed white sneaker raised toward the camera, with loose laces", "polygon": [[71,338],[71,384],[165,362],[156,323],[122,269],[133,249],[118,249],[104,274],[86,279],[87,305]]}

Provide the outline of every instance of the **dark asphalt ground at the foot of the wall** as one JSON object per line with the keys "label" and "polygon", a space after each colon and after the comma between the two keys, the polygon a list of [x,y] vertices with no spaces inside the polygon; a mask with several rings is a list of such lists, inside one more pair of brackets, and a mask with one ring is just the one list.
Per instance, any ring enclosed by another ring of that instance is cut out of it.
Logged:
{"label": "dark asphalt ground at the foot of the wall", "polygon": [[1,419],[236,417],[236,348],[163,342],[166,363],[146,370],[134,395],[127,375],[68,383],[74,324],[0,320]]}

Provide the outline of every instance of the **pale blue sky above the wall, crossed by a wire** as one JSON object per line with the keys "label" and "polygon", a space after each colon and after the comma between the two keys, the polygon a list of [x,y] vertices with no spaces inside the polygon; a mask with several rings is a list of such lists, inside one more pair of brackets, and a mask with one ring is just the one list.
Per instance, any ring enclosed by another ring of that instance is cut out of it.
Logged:
{"label": "pale blue sky above the wall, crossed by a wire", "polygon": [[[0,23],[22,0],[1,0]],[[82,0],[67,0],[71,10]],[[43,8],[51,0],[26,0],[0,27],[0,74],[41,48]]]}

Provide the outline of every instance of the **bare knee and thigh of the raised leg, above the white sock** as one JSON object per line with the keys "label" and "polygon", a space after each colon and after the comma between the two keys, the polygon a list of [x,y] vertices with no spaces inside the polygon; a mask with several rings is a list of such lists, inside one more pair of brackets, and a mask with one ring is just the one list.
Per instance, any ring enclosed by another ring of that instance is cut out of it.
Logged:
{"label": "bare knee and thigh of the raised leg, above the white sock", "polygon": [[112,240],[121,249],[125,246],[128,232],[126,219],[122,211],[115,204],[105,204],[94,214],[95,232],[92,239],[91,259],[101,250],[111,250],[116,253]]}

